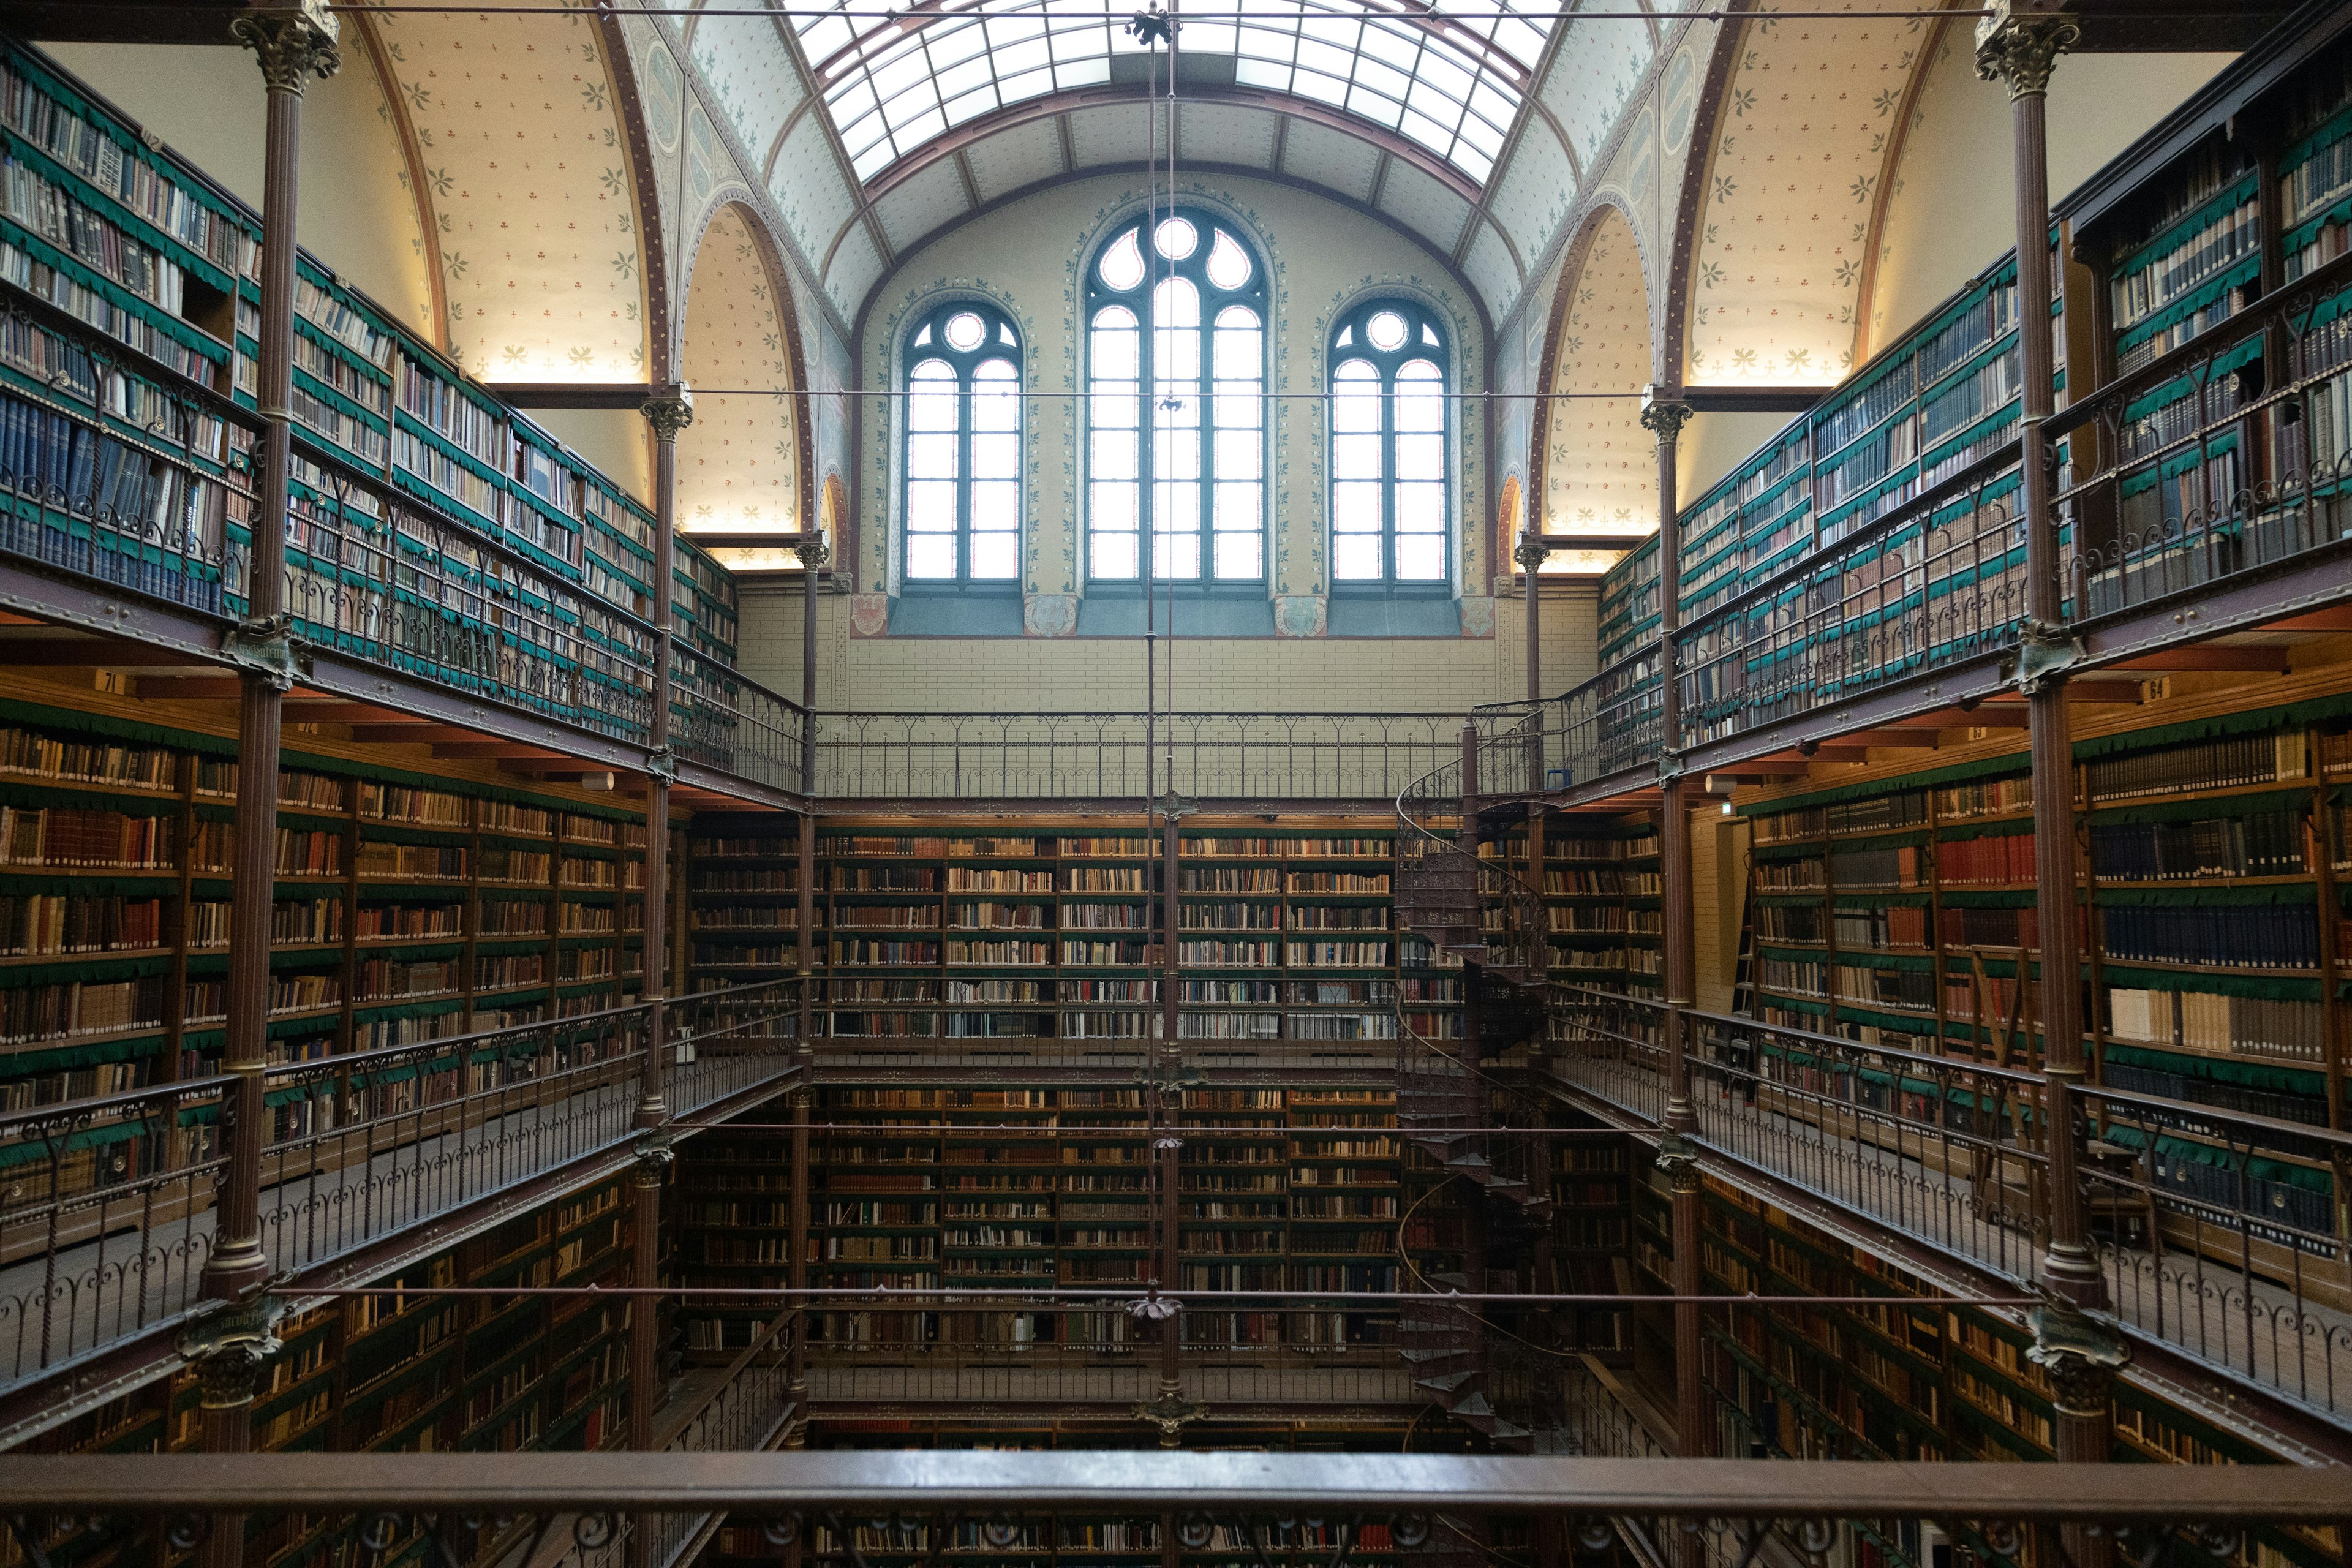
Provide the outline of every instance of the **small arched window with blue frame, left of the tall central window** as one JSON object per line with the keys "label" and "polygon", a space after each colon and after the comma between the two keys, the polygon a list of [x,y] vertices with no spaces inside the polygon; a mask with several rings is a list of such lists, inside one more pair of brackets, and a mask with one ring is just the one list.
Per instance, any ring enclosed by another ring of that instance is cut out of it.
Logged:
{"label": "small arched window with blue frame, left of the tall central window", "polygon": [[1021,578],[1021,334],[953,301],[906,341],[906,581]]}

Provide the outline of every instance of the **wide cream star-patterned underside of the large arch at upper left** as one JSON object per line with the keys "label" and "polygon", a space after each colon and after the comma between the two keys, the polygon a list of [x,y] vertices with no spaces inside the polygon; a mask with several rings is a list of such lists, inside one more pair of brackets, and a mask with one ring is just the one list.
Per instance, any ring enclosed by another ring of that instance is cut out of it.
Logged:
{"label": "wide cream star-patterned underside of the large arch at upper left", "polygon": [[492,381],[644,376],[644,240],[590,16],[367,19],[440,216],[449,348]]}

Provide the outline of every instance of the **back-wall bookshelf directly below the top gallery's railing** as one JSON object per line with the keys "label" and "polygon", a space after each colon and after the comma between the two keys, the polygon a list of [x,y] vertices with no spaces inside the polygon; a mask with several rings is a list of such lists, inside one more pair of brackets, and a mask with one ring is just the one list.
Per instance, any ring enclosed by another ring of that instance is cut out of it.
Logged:
{"label": "back-wall bookshelf directly below the top gallery's railing", "polygon": [[[1007,832],[962,818],[828,818],[816,851],[833,1056],[1131,1067],[1138,1041],[1157,1037],[1162,856],[1141,823],[1025,818]],[[797,842],[757,818],[699,818],[689,853],[691,983],[790,966]],[[1458,973],[1397,929],[1392,863],[1388,818],[1185,823],[1188,1053],[1385,1063],[1399,997],[1416,1030],[1458,1039]]]}

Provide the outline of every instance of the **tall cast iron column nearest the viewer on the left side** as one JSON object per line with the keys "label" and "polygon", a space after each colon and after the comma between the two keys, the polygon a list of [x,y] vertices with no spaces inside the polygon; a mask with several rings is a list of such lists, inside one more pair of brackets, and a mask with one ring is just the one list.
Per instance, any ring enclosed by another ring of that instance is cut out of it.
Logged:
{"label": "tall cast iron column nearest the viewer on the left side", "polygon": [[[261,195],[261,473],[252,545],[245,557],[245,621],[223,639],[245,665],[238,701],[238,849],[228,926],[228,1039],[221,1072],[235,1079],[221,1107],[228,1173],[212,1222],[205,1295],[238,1300],[270,1272],[261,1251],[261,1154],[268,1145],[263,1072],[270,1027],[270,891],[278,872],[278,726],[294,686],[285,614],[287,508],[294,400],[294,214],[301,195],[301,94],[313,75],[334,75],[336,19],[282,7],[238,16],[230,35],[261,61],[268,89]],[[214,1427],[207,1408],[207,1432]],[[226,1406],[221,1406],[226,1408]],[[221,1439],[228,1441],[228,1425]],[[209,1446],[209,1443],[207,1443]],[[245,1453],[235,1439],[228,1453]],[[242,1526],[240,1526],[242,1530]],[[233,1561],[233,1559],[223,1559]]]}

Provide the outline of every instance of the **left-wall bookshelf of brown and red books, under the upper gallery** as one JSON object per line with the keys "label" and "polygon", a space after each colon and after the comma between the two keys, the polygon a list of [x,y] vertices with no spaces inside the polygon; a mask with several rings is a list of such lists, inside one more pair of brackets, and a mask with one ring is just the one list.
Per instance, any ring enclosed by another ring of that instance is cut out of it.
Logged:
{"label": "left-wall bookshelf of brown and red books, under the upper gallery", "polygon": [[[12,1110],[202,1077],[226,1037],[235,741],[56,696],[0,703]],[[642,969],[637,818],[287,750],[270,1060],[616,1006]]]}

